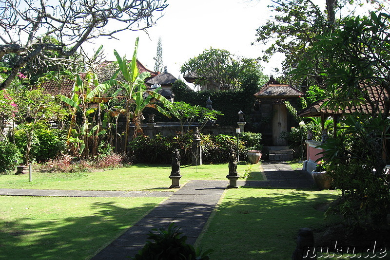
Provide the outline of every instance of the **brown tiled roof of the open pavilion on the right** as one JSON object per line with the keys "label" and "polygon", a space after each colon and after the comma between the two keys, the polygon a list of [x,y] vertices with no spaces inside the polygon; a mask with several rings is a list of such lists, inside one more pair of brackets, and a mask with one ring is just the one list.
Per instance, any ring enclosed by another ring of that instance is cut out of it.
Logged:
{"label": "brown tiled roof of the open pavilion on the right", "polygon": [[[385,94],[382,93],[382,89],[378,85],[369,85],[365,83],[361,83],[360,86],[361,88],[365,88],[367,90],[369,101],[372,102],[374,106],[377,106],[377,109],[379,109],[379,111],[384,111],[383,104],[385,101]],[[370,106],[369,101],[355,107],[346,107],[344,110],[338,109],[337,111],[333,111],[326,107],[321,108],[325,101],[328,101],[328,99],[315,102],[311,106],[299,112],[298,116],[320,116],[322,114],[343,115],[354,112],[368,114],[372,112],[372,107]]]}

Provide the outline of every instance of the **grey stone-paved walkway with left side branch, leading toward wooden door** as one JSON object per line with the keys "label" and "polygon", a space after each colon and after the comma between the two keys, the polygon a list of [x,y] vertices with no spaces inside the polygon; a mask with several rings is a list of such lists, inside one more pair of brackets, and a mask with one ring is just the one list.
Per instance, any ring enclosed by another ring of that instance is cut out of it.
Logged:
{"label": "grey stone-paved walkway with left side branch, leading toward wooden door", "polygon": [[[263,162],[261,168],[267,180],[237,181],[237,186],[310,188],[312,177],[304,171],[294,171],[283,162]],[[117,240],[101,250],[93,260],[121,260],[134,257],[148,237],[149,231],[167,227],[174,222],[180,227],[187,242],[194,244],[212,211],[218,204],[229,181],[190,181],[175,193],[164,191],[80,191],[0,189],[0,195],[66,196],[66,197],[167,197],[148,215],[129,228]]]}

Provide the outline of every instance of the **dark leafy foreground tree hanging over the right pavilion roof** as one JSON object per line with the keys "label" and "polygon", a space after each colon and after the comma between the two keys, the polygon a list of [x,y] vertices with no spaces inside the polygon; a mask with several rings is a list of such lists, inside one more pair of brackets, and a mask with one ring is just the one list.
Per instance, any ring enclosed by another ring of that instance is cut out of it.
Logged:
{"label": "dark leafy foreground tree hanging over the right pavilion roof", "polygon": [[[387,118],[390,109],[390,15],[371,13],[370,18],[347,19],[345,24],[329,34],[317,37],[311,52],[312,59],[305,59],[292,71],[295,76],[318,75],[324,77],[325,103],[331,109],[353,108],[366,104],[378,116],[383,108],[382,118]],[[317,57],[324,59],[313,64]],[[371,100],[370,90],[374,87],[379,96]]]}

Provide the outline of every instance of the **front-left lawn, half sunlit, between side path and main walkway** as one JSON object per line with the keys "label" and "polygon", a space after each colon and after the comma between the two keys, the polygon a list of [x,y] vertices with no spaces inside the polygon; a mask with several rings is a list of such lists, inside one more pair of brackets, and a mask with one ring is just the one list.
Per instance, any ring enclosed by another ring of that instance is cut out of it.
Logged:
{"label": "front-left lawn, half sunlit, between side path and main walkway", "polygon": [[162,200],[0,196],[0,259],[90,259]]}

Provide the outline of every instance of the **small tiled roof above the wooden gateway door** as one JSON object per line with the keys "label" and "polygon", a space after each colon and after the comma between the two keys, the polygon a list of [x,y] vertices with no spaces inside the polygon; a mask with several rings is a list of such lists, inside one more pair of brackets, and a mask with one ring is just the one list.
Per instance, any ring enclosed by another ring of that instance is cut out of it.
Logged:
{"label": "small tiled roof above the wooden gateway door", "polygon": [[287,84],[265,84],[254,96],[261,97],[298,97],[304,93]]}

